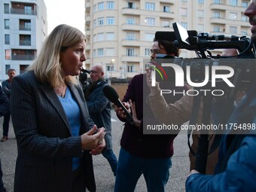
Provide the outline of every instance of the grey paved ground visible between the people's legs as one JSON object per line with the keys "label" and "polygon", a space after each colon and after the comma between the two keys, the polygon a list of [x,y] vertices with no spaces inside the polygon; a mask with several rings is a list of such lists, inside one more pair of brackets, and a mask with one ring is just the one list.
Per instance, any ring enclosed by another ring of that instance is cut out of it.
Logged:
{"label": "grey paved ground visible between the people's legs", "polygon": [[[122,134],[122,122],[117,120],[115,114],[113,116],[113,145],[114,152],[118,156],[120,149],[120,136]],[[0,136],[2,137],[2,120],[0,118]],[[3,181],[8,192],[14,189],[14,168],[17,157],[17,145],[14,136],[12,124],[10,123],[10,133],[7,142],[0,142],[0,157],[2,161],[2,169],[4,172]],[[172,157],[172,169],[170,169],[170,178],[166,185],[166,192],[183,192],[184,181],[189,170],[189,160],[187,157],[187,136],[179,134],[174,143],[174,156]],[[108,161],[102,155],[93,157],[94,171],[96,177],[96,185],[98,192],[111,192],[114,189],[114,175],[112,175],[111,168]],[[139,179],[136,187],[136,192],[146,192],[147,188],[143,176]]]}

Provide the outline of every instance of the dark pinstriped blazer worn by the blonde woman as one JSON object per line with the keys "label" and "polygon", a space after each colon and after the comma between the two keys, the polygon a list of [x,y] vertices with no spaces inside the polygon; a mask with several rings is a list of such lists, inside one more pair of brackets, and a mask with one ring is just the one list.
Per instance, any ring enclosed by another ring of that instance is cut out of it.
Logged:
{"label": "dark pinstriped blazer worn by the blonde woman", "polygon": [[[81,110],[82,134],[93,126],[93,121],[81,86],[72,84],[69,88]],[[11,89],[18,147],[14,192],[71,192],[72,157],[83,158],[83,170],[87,170],[84,182],[94,191],[92,158],[88,151],[81,150],[81,137],[72,136],[66,113],[50,84],[41,84],[34,72],[26,72],[14,78]]]}

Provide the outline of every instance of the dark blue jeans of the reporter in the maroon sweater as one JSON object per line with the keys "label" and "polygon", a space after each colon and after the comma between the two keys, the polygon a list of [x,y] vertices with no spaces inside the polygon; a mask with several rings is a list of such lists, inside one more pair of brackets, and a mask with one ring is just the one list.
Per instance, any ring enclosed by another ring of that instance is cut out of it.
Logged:
{"label": "dark blue jeans of the reporter in the maroon sweater", "polygon": [[171,157],[163,159],[136,157],[120,148],[114,192],[133,192],[142,174],[148,192],[163,192],[171,166]]}

